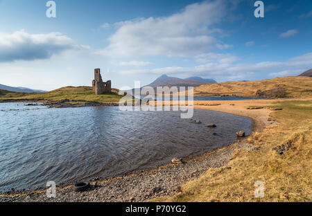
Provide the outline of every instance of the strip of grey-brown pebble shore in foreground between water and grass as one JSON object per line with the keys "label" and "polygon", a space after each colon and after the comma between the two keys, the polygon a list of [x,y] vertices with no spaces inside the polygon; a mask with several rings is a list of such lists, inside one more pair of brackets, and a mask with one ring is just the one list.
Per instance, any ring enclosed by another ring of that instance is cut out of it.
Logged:
{"label": "strip of grey-brown pebble shore in foreground between water and grass", "polygon": [[[210,168],[220,168],[232,160],[234,150],[244,148],[248,151],[259,147],[248,144],[245,138],[236,143],[207,152],[192,159],[183,159],[183,163],[172,163],[154,170],[128,174],[123,177],[89,181],[89,189],[75,192],[73,186],[57,186],[56,197],[46,197],[46,190],[33,192],[6,192],[0,195],[5,202],[120,202],[148,201],[156,197],[172,196],[181,191],[187,181],[198,179]],[[225,167],[225,169],[231,169]]]}

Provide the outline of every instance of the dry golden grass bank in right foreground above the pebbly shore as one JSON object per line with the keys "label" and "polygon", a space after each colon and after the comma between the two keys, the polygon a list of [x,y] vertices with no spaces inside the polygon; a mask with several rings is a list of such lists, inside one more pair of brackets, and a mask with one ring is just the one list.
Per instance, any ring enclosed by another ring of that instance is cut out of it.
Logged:
{"label": "dry golden grass bank in right foreground above the pebbly shore", "polygon": [[[226,167],[209,169],[174,197],[153,201],[312,201],[312,100],[270,107],[282,108],[270,114],[279,124],[248,138],[259,150],[235,150]],[[284,155],[272,150],[287,142],[291,147]],[[256,181],[264,183],[263,198],[254,197]]]}

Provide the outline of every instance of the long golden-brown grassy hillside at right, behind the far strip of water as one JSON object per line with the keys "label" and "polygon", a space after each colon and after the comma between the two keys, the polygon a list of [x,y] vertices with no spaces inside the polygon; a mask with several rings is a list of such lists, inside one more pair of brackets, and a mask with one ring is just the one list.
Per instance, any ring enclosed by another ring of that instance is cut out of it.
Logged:
{"label": "long golden-brown grassy hillside at right, behind the far strip of water", "polygon": [[[274,97],[281,93],[284,97],[312,96],[312,78],[310,77],[284,77],[261,81],[237,81],[203,84],[194,88],[196,96],[256,96],[260,90],[263,96]],[[270,96],[272,94],[272,96]]]}

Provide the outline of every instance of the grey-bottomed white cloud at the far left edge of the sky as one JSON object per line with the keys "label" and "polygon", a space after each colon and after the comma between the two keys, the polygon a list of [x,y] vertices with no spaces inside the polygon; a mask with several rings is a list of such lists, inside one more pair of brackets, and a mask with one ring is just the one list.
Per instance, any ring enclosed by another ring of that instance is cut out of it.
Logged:
{"label": "grey-bottomed white cloud at the far left edge of the sky", "polygon": [[31,35],[25,30],[19,30],[12,34],[0,34],[0,62],[47,59],[73,48],[78,46],[61,33]]}

